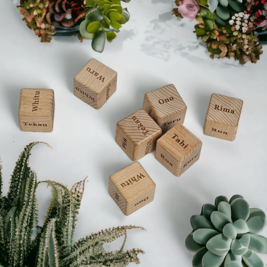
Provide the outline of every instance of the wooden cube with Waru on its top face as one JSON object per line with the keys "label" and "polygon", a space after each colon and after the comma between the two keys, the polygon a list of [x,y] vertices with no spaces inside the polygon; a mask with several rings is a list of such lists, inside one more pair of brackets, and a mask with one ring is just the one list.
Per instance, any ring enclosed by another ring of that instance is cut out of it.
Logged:
{"label": "wooden cube with Waru on its top face", "polygon": [[92,58],[74,77],[74,95],[99,109],[117,87],[117,73]]}

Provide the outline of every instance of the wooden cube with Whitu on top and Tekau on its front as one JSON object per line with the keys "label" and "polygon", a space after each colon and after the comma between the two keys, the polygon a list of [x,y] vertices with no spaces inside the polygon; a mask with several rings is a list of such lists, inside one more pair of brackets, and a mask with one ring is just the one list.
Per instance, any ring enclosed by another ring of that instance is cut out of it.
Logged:
{"label": "wooden cube with Whitu on top and Tekau on its front", "polygon": [[20,130],[26,132],[52,132],[55,98],[52,89],[28,89],[20,91]]}

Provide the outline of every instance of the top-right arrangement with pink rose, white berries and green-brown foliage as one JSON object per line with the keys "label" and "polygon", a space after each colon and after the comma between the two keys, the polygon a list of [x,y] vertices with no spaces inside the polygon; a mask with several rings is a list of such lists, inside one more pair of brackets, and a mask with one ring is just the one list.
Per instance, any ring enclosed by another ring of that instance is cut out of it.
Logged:
{"label": "top-right arrangement with pink rose, white berries and green-brown foliage", "polygon": [[234,57],[240,64],[256,63],[263,53],[259,43],[266,36],[266,0],[176,0],[173,14],[197,20],[195,33],[210,57]]}

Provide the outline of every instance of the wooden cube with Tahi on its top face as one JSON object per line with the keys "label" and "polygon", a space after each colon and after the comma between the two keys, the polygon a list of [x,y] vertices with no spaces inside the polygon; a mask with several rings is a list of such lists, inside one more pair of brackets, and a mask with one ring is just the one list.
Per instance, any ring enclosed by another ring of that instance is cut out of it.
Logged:
{"label": "wooden cube with Tahi on its top face", "polygon": [[200,156],[202,142],[177,124],[157,140],[155,158],[175,176],[180,176]]}

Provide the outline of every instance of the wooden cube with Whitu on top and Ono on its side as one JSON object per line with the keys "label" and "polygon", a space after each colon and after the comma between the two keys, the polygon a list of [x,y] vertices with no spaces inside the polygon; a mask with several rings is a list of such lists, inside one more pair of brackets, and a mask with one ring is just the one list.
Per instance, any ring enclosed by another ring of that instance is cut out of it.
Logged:
{"label": "wooden cube with Whitu on top and Ono on its side", "polygon": [[125,215],[151,202],[155,189],[155,183],[139,162],[112,174],[109,179],[109,193]]}

